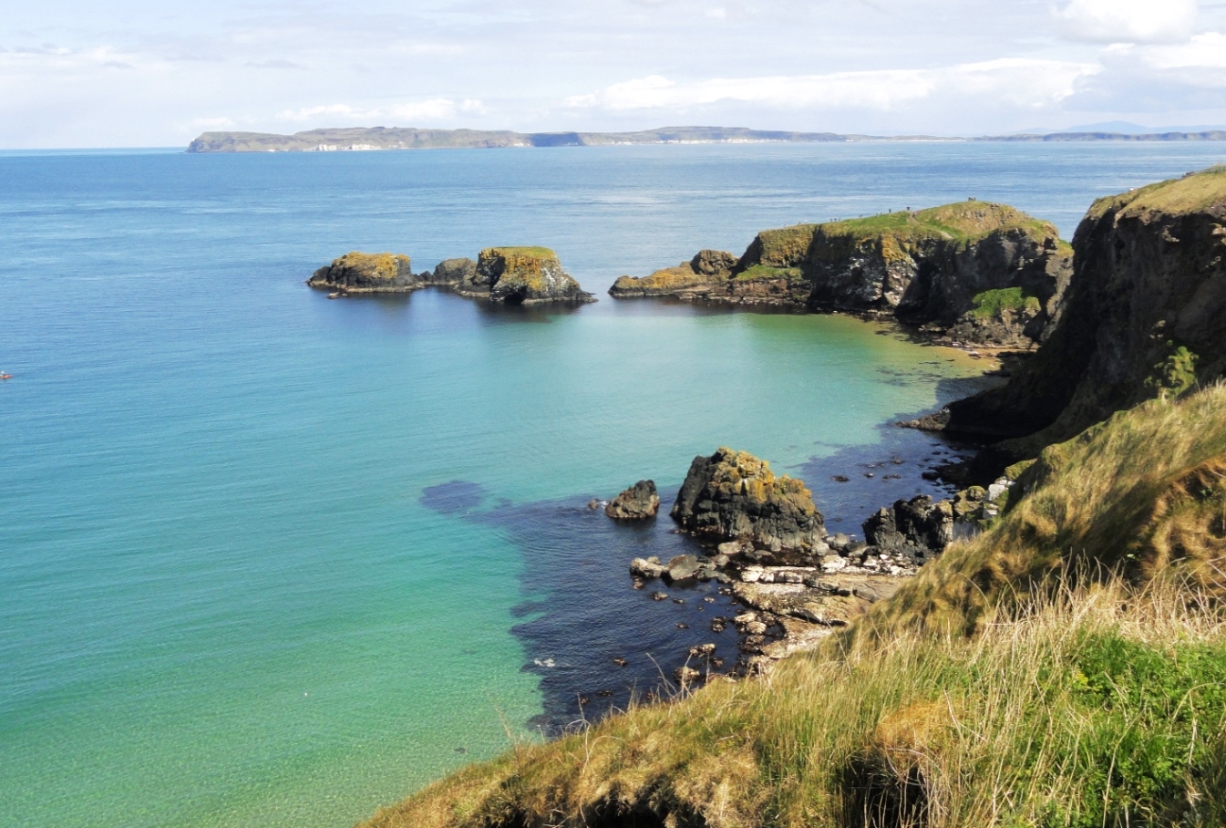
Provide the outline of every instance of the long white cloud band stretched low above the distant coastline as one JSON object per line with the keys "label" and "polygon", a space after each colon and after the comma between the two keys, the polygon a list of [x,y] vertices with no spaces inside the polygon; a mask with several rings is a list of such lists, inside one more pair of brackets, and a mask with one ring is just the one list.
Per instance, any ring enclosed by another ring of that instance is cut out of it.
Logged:
{"label": "long white cloud band stretched low above the distant coastline", "polygon": [[780,108],[890,110],[953,94],[991,97],[1014,107],[1035,109],[1072,96],[1078,81],[1100,69],[1097,64],[1014,58],[939,69],[717,77],[691,82],[649,75],[614,83],[601,92],[570,97],[565,104],[625,110],[676,109],[732,101]]}

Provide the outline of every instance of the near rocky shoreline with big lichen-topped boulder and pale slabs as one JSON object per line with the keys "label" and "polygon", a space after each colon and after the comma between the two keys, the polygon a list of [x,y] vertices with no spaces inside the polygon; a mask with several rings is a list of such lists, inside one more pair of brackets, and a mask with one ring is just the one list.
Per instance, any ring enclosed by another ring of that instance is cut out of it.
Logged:
{"label": "near rocky shoreline with big lichen-topped boulder and pale slabs", "polygon": [[940,554],[954,540],[955,515],[970,514],[966,503],[921,494],[870,515],[863,541],[829,535],[801,481],[720,448],[694,459],[671,510],[678,531],[696,537],[705,553],[635,558],[629,573],[633,588],[650,589],[657,601],[684,600],[666,590],[714,581],[741,610],[710,622],[712,633],[736,629],[736,662],[715,655],[714,643],[691,646],[672,673],[684,689],[717,676],[769,672],[780,659],[818,646]]}

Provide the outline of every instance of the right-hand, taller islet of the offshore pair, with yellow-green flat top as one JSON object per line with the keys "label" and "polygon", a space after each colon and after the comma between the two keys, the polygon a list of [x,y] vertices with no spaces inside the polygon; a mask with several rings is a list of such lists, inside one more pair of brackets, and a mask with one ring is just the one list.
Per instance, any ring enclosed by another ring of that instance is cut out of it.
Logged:
{"label": "right-hand, taller islet of the offshore pair, with yellow-green flat top", "polygon": [[595,302],[549,248],[487,248],[477,259],[476,272],[455,289],[504,304]]}

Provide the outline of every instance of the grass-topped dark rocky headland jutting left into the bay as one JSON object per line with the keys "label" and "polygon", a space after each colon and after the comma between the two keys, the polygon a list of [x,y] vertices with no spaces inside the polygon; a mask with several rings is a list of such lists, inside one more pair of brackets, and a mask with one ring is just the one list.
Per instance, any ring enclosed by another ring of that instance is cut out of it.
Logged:
{"label": "grass-topped dark rocky headland jutting left into the bay", "polygon": [[623,276],[609,293],[847,310],[965,343],[1034,347],[1054,329],[1072,274],[1052,224],[984,201],[763,231],[726,271],[704,272],[699,256]]}

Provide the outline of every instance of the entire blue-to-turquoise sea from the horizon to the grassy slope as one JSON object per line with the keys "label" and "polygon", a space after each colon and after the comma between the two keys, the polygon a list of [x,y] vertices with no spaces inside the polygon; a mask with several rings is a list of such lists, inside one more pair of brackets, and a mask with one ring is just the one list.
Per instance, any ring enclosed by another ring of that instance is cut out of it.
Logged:
{"label": "entire blue-to-turquoise sea from the horizon to the grassy slope", "polygon": [[[1070,238],[1095,197],[1222,161],[1107,142],[0,152],[0,824],[348,826],[677,692],[695,643],[731,666],[710,626],[727,596],[653,601],[626,572],[695,550],[667,516],[693,458],[767,459],[855,535],[969,450],[891,423],[998,380],[886,325],[614,301],[613,280],[970,197]],[[601,301],[304,285],[348,250],[421,271],[498,244],[554,248]],[[640,478],[655,521],[588,508]]]}

